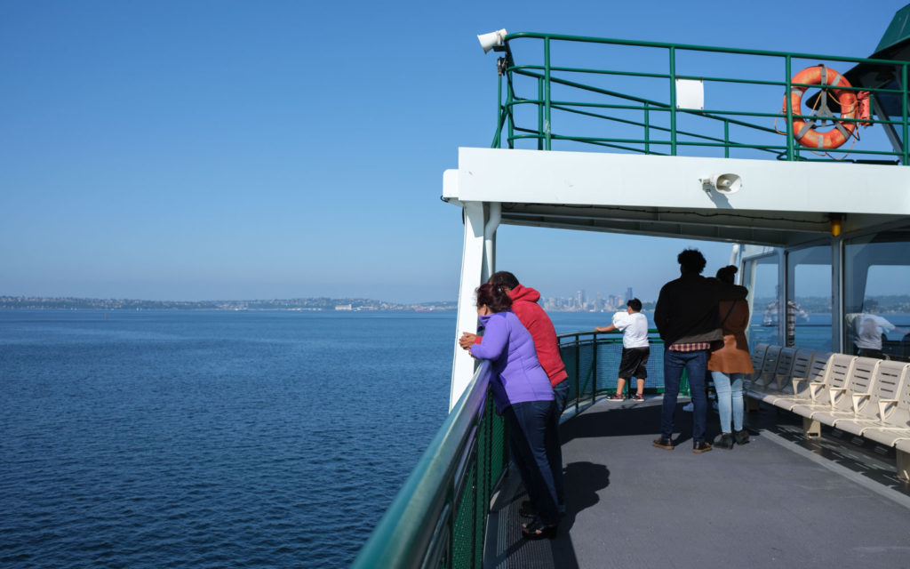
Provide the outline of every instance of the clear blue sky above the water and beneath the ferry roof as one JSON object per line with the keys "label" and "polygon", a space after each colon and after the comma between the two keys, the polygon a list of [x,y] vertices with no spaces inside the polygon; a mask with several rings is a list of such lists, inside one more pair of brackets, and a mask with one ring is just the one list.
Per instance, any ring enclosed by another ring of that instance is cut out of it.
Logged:
{"label": "clear blue sky above the water and beneath the ferry roof", "polygon": [[[0,294],[452,300],[462,226],[442,171],[495,119],[477,34],[867,56],[904,4],[6,0]],[[679,249],[712,270],[730,250],[499,239],[501,269],[547,296],[653,298]]]}

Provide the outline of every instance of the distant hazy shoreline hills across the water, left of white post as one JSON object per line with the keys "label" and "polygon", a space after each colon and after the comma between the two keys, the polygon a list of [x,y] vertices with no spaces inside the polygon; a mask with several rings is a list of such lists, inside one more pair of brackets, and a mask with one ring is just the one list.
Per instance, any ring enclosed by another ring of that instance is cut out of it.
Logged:
{"label": "distant hazy shoreline hills across the water, left of white post", "polygon": [[0,310],[455,310],[457,302],[399,304],[371,299],[128,300],[0,296]]}

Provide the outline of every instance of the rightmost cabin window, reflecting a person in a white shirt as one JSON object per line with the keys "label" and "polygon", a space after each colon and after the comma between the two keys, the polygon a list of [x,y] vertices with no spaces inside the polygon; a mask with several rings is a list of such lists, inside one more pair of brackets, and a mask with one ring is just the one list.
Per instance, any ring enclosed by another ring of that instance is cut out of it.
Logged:
{"label": "rightmost cabin window, reflecting a person in a white shirt", "polygon": [[845,351],[910,361],[910,229],[847,241]]}

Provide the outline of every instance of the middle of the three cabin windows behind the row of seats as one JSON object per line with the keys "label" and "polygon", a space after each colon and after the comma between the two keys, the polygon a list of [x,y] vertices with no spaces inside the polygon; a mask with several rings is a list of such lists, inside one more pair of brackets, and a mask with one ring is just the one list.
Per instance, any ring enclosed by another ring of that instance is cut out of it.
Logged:
{"label": "middle of the three cabin windows behind the row of seats", "polygon": [[791,251],[787,271],[786,344],[831,350],[831,246]]}

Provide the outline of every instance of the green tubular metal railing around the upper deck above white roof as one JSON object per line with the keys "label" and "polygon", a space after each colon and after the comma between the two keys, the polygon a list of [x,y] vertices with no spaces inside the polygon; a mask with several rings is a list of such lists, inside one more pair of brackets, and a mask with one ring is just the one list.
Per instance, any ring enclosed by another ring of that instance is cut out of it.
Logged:
{"label": "green tubular metal railing around the upper deck above white roof", "polygon": [[[542,65],[516,65],[514,61],[514,56],[512,55],[512,43],[516,40],[541,40],[543,42],[543,63]],[[575,66],[555,66],[551,61],[551,44],[553,42],[573,42],[573,43],[590,43],[590,44],[602,44],[602,45],[614,45],[614,46],[635,46],[643,48],[661,48],[666,49],[669,52],[669,72],[668,73],[650,73],[650,72],[640,72],[640,71],[620,71],[620,70],[610,70],[610,69],[592,69],[586,67],[575,67]],[[506,142],[509,147],[514,147],[516,141],[522,139],[536,139],[538,141],[537,147],[541,150],[550,150],[552,147],[553,140],[563,140],[563,141],[574,141],[580,142],[595,147],[611,147],[618,148],[625,151],[639,152],[645,154],[664,154],[664,152],[655,152],[652,147],[669,147],[669,154],[676,155],[678,150],[681,147],[704,147],[704,148],[723,148],[724,157],[730,156],[731,149],[750,149],[757,152],[766,152],[771,153],[778,159],[786,160],[815,160],[816,158],[811,157],[802,157],[800,156],[800,150],[803,149],[807,152],[819,150],[817,148],[803,147],[795,142],[794,140],[794,118],[795,119],[804,119],[812,116],[801,115],[801,109],[794,109],[791,107],[790,93],[794,87],[804,87],[811,86],[803,83],[794,83],[792,81],[792,68],[791,64],[794,59],[814,59],[816,61],[837,61],[837,62],[848,62],[848,63],[862,63],[870,65],[880,65],[880,66],[890,66],[895,68],[895,73],[898,73],[900,76],[907,76],[907,66],[910,66],[910,62],[905,61],[893,61],[887,59],[874,59],[868,57],[847,57],[847,56],[827,56],[819,54],[803,54],[796,52],[782,52],[782,51],[771,51],[771,50],[758,50],[758,49],[736,49],[729,47],[715,47],[715,46],[693,46],[687,44],[671,44],[664,42],[642,42],[642,41],[633,41],[633,40],[623,40],[623,39],[614,39],[614,38],[601,38],[601,37],[591,37],[591,36],[565,36],[560,34],[539,34],[531,32],[521,32],[517,34],[510,34],[505,37],[505,61],[504,61],[504,73],[508,81],[508,86],[506,89],[506,99],[502,100],[502,83],[500,80],[500,89],[498,94],[498,108],[499,108],[499,119],[496,129],[496,135],[493,139],[493,147],[501,147],[502,144],[502,128],[507,127],[508,133],[505,137]],[[737,79],[730,77],[719,77],[719,76],[692,76],[687,74],[677,74],[676,73],[676,57],[678,52],[703,52],[703,53],[714,53],[714,54],[731,54],[736,56],[763,56],[763,57],[777,57],[784,59],[784,80],[768,80],[768,79]],[[603,89],[597,86],[585,85],[578,81],[571,81],[563,77],[557,76],[560,73],[571,73],[571,74],[588,74],[588,75],[600,75],[600,76],[630,76],[630,77],[648,77],[648,78],[658,78],[658,79],[667,79],[669,80],[669,102],[657,101],[648,99],[646,97],[637,97],[627,93],[619,93],[608,89]],[[515,93],[515,76],[525,76],[529,77],[537,82],[537,97],[518,97]],[[715,82],[715,83],[733,83],[741,85],[761,85],[761,86],[782,86],[784,87],[784,108],[779,112],[752,112],[752,111],[743,111],[736,109],[688,109],[688,108],[676,108],[676,79],[700,79],[704,82]],[[580,89],[582,91],[587,91],[590,93],[606,96],[606,97],[615,97],[625,101],[630,101],[635,103],[634,105],[604,105],[598,103],[591,103],[590,101],[567,101],[567,100],[554,100],[551,97],[551,86],[559,85],[568,87],[571,89]],[[844,87],[844,90],[858,91],[860,89],[868,91],[870,93],[890,93],[895,94],[899,93],[903,96],[903,105],[902,105],[902,117],[891,117],[888,118],[872,118],[869,119],[860,119],[860,118],[840,118],[835,117],[836,121],[843,122],[868,122],[871,124],[882,124],[882,125],[895,125],[900,126],[901,131],[907,132],[907,85],[906,82],[901,83],[900,89],[895,88],[886,88],[886,87],[859,87],[851,86]],[[520,107],[524,105],[531,105],[538,107],[537,113],[537,126],[536,127],[520,127],[515,124],[515,114],[513,112],[514,107]],[[632,121],[625,118],[619,117],[609,117],[607,115],[600,115],[591,112],[581,110],[581,108],[572,108],[572,107],[597,107],[597,108],[615,108],[615,109],[626,109],[626,110],[641,110],[644,114],[642,121]],[[643,138],[630,138],[630,137],[590,137],[590,136],[579,136],[572,135],[569,133],[558,132],[553,128],[552,125],[552,111],[557,110],[562,113],[568,113],[575,116],[582,117],[591,117],[591,118],[600,118],[602,120],[620,122],[629,126],[643,127],[644,137]],[[661,127],[651,124],[651,117],[649,116],[653,112],[665,112],[670,115],[670,125],[669,127]],[[678,128],[677,125],[677,116],[686,115],[694,117],[703,117],[706,119],[720,121],[723,123],[723,138],[719,135],[715,136],[706,136],[701,133],[691,132],[689,130],[682,130]],[[879,117],[880,113],[875,113],[875,117]],[[739,117],[739,118],[737,118]],[[755,117],[775,117],[775,118],[784,118],[784,129],[785,132],[777,131],[775,128],[770,128],[767,126],[759,125],[753,122],[748,122],[743,120],[745,118],[755,118]],[[747,129],[752,129],[755,132],[771,133],[778,132],[779,134],[785,135],[785,141],[782,141],[780,144],[768,144],[766,142],[755,142],[755,143],[744,143],[741,141],[734,141],[730,139],[730,127],[738,126],[744,127]],[[658,132],[667,132],[669,131],[669,137],[663,139],[655,139],[651,137],[651,131]],[[516,135],[515,132],[521,134]],[[691,137],[693,139],[683,140],[680,137]],[[905,140],[903,138],[902,140]],[[900,150],[881,150],[881,149],[864,149],[864,148],[829,148],[821,149],[825,152],[847,152],[854,155],[862,156],[892,156],[898,158],[901,163],[907,165],[910,163],[910,156],[908,156],[907,145],[904,144],[903,148]],[[830,157],[831,160],[837,160],[838,158]],[[823,158],[824,159],[824,158]],[[843,159],[843,158],[840,158]]]}

